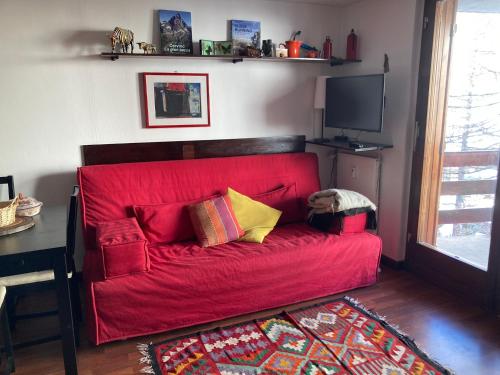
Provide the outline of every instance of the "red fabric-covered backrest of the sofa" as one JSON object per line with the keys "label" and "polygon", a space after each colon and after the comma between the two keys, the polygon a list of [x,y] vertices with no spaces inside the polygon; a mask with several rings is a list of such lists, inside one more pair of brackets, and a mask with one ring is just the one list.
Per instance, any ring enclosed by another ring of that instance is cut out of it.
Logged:
{"label": "red fabric-covered backrest of the sofa", "polygon": [[307,197],[320,188],[318,176],[314,153],[81,167],[78,179],[86,248],[96,246],[98,222],[133,216],[135,205],[199,200],[224,194],[229,186],[254,197],[295,184],[297,199],[305,210]]}

